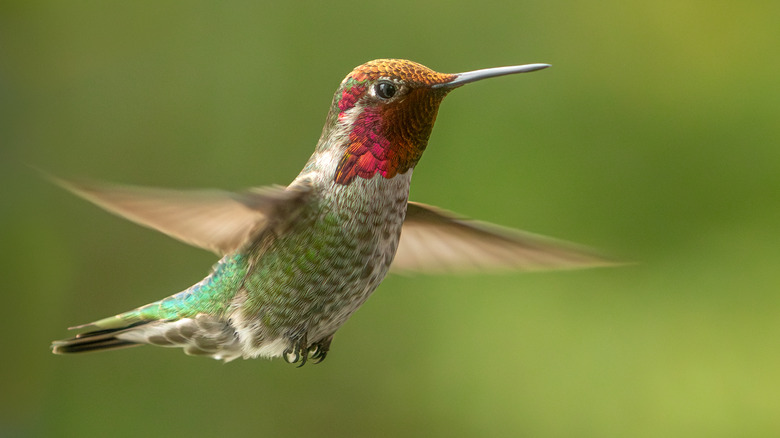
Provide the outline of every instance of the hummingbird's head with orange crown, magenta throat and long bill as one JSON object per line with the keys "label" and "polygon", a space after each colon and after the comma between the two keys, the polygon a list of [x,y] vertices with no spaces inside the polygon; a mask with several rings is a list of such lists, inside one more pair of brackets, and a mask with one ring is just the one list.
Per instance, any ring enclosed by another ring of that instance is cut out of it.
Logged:
{"label": "hummingbird's head with orange crown, magenta throat and long bill", "polygon": [[[333,97],[326,132],[342,145],[334,180],[392,178],[420,160],[444,96],[463,84],[548,67],[528,64],[438,73],[416,62],[378,59],[356,67]],[[331,145],[332,146],[332,145]]]}

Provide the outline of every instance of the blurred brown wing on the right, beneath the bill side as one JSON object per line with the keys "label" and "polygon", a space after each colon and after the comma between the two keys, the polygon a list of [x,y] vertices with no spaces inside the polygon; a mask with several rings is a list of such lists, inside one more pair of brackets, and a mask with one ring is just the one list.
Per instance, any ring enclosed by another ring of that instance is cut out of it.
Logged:
{"label": "blurred brown wing on the right, beneath the bill side", "polygon": [[409,202],[393,272],[540,271],[617,263],[586,248]]}

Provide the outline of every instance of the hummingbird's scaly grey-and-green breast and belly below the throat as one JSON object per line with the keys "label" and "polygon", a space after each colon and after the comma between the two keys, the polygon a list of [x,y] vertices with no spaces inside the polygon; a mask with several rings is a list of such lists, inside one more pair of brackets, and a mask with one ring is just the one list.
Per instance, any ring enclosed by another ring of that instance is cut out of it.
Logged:
{"label": "hummingbird's scaly grey-and-green breast and belly below the throat", "polygon": [[[257,257],[233,321],[255,345],[332,335],[384,279],[398,246],[411,170],[315,188]],[[242,327],[243,326],[243,327]]]}

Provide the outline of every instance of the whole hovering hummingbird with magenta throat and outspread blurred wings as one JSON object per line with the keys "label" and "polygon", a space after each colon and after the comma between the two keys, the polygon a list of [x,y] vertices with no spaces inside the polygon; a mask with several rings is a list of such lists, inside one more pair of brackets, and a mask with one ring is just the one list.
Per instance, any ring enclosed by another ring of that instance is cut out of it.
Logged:
{"label": "whole hovering hummingbird with magenta throat and outspread blurred wings", "polygon": [[317,146],[286,187],[178,191],[55,182],[221,257],[197,284],[54,341],[56,354],[151,344],[223,361],[321,362],[334,333],[388,272],[567,269],[612,264],[588,249],[409,201],[412,172],[452,90],[549,67],[446,74],[401,59],[341,82]]}

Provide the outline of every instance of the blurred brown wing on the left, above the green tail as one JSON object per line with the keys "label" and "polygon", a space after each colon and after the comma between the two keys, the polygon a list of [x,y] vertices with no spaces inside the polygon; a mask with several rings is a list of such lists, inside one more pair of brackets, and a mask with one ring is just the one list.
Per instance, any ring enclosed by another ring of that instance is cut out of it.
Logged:
{"label": "blurred brown wing on the left, above the green tail", "polygon": [[180,191],[51,179],[111,213],[220,255],[240,248],[281,204],[306,193],[283,187]]}

